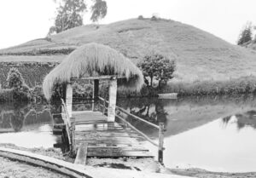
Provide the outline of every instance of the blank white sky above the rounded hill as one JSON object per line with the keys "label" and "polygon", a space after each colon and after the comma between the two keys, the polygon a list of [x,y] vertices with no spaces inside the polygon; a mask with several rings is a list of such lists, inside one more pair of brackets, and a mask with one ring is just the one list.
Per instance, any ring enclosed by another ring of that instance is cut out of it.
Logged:
{"label": "blank white sky above the rounded hill", "polygon": [[[102,24],[157,14],[196,26],[234,44],[247,21],[256,26],[255,0],[106,1],[108,14],[100,21]],[[91,0],[85,2],[90,5]],[[56,7],[53,0],[0,0],[0,49],[45,37],[54,23]],[[89,23],[90,12],[84,14],[84,24]]]}

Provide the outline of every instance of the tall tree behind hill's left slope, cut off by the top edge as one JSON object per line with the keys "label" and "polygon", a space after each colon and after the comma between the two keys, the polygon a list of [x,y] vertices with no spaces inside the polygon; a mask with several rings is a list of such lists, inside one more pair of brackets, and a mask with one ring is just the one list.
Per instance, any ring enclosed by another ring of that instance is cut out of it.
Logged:
{"label": "tall tree behind hill's left slope, cut off by the top edge", "polygon": [[[107,14],[107,3],[102,0],[92,0],[90,20],[97,21]],[[83,15],[87,7],[84,0],[60,0],[60,7],[57,8],[55,25],[49,28],[48,35],[56,32],[63,32],[76,26],[83,25]],[[57,3],[57,0],[55,0]]]}

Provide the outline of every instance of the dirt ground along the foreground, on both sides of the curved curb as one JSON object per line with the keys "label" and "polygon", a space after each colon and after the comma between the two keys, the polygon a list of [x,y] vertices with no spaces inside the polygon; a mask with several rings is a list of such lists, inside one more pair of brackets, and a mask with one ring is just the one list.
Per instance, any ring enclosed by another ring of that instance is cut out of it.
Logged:
{"label": "dirt ground along the foreground, on both sides of the curved curb", "polygon": [[[9,147],[19,149],[27,152],[42,154],[45,156],[58,158],[73,163],[72,158],[62,155],[61,150],[55,148],[32,148],[27,149],[13,144],[0,144],[2,147]],[[131,169],[145,172],[156,172],[170,175],[183,175],[198,178],[255,178],[256,172],[248,173],[224,173],[224,172],[211,172],[205,169],[168,169],[152,158],[87,158],[87,165],[94,167],[105,167],[113,169]],[[34,167],[32,165],[20,163],[8,158],[0,157],[0,178],[58,178],[67,176],[43,169]]]}

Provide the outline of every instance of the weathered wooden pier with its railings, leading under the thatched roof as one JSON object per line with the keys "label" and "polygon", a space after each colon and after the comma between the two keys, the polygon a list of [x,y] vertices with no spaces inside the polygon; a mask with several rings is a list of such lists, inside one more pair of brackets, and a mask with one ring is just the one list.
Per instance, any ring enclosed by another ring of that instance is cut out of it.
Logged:
{"label": "weathered wooden pier with its railings, leading under the thatched roof", "polygon": [[[99,97],[100,98],[100,97]],[[86,158],[154,158],[151,152],[143,146],[143,141],[150,141],[155,146],[160,146],[159,161],[162,163],[163,130],[160,144],[151,141],[147,135],[133,128],[129,123],[121,125],[109,122],[107,117],[108,101],[100,98],[103,103],[98,105],[100,111],[72,112],[69,117],[67,106],[62,100],[62,119],[67,134],[70,152],[75,157],[75,164],[86,164]],[[122,112],[122,108],[117,107]],[[125,112],[125,111],[123,111]],[[116,115],[117,118],[121,118]],[[123,118],[121,118],[123,119]],[[142,119],[142,118],[140,118]],[[123,120],[125,121],[125,120]],[[143,120],[144,121],[144,120]],[[147,121],[144,121],[147,122]],[[153,123],[150,123],[153,124]],[[131,126],[131,127],[130,127]],[[157,129],[159,126],[153,125]]]}

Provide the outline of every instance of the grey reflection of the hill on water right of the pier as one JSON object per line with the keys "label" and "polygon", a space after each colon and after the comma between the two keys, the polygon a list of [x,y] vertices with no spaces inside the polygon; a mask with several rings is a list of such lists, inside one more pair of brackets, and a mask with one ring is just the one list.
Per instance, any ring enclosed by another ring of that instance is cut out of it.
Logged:
{"label": "grey reflection of the hill on water right of the pier", "polygon": [[[217,118],[224,118],[234,114],[239,118],[241,117],[239,114],[253,111],[256,108],[256,99],[253,95],[241,95],[240,97],[187,97],[178,100],[148,100],[144,98],[119,100],[118,105],[151,123],[165,123],[166,136],[171,136],[194,129]],[[131,117],[125,117],[137,129],[141,129],[145,134],[157,138],[158,132],[154,128],[148,127]],[[242,118],[244,117],[242,115]],[[253,115],[251,114],[252,117]]]}

